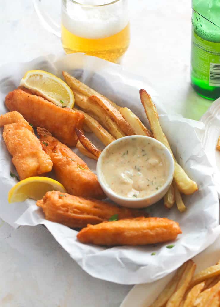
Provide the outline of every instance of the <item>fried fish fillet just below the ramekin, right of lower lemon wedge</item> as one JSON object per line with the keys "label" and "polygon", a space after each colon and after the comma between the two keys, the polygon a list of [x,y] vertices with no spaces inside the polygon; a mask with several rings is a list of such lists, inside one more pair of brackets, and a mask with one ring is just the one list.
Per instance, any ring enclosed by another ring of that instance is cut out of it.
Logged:
{"label": "fried fish fillet just below the ramekin, right of lower lemon wedge", "polygon": [[86,199],[78,196],[50,191],[37,201],[43,209],[45,218],[71,228],[86,227],[88,223],[98,224],[115,214],[119,219],[143,216],[142,210],[119,208],[101,200]]}

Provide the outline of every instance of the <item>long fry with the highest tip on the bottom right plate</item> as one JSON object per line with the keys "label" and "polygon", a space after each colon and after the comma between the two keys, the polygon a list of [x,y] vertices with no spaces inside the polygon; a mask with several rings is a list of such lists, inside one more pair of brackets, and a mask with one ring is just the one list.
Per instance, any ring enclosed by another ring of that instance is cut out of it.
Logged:
{"label": "long fry with the highest tip on the bottom right plate", "polygon": [[192,260],[187,261],[187,267],[183,272],[183,276],[181,278],[182,281],[179,285],[179,289],[169,298],[166,307],[179,307],[183,296],[186,293],[187,288],[191,282],[191,279],[195,272],[195,267],[196,264]]}

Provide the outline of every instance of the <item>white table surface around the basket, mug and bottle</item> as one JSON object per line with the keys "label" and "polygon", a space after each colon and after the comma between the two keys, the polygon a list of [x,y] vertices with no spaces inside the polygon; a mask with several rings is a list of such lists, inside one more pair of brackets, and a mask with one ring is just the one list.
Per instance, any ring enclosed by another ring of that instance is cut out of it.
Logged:
{"label": "white table surface around the basket, mug and bottle", "polygon": [[[59,1],[49,2],[51,10],[59,6]],[[211,102],[190,85],[191,3],[136,3],[122,65],[147,77],[169,112],[199,119]],[[2,0],[0,20],[0,65],[64,54],[60,39],[44,29],[30,0]],[[41,225],[14,229],[0,219],[0,240],[1,307],[118,307],[132,288],[89,276]]]}

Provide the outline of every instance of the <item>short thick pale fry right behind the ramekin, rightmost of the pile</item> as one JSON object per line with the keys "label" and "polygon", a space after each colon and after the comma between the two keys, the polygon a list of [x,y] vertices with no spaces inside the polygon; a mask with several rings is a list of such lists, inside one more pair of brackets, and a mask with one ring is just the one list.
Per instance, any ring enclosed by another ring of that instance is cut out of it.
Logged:
{"label": "short thick pale fry right behind the ramekin, rightmost of the pile", "polygon": [[135,134],[146,135],[151,138],[153,137],[152,132],[144,126],[144,124],[140,121],[139,117],[137,117],[130,109],[128,109],[127,107],[120,108],[119,112],[124,117],[124,119],[132,126]]}

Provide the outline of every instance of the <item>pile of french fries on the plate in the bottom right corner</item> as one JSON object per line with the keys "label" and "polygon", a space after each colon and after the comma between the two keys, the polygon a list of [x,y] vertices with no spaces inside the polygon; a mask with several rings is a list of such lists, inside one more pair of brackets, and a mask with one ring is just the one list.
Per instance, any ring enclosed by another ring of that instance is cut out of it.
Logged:
{"label": "pile of french fries on the plate in the bottom right corner", "polygon": [[194,275],[196,265],[188,260],[149,307],[219,307],[220,261]]}

